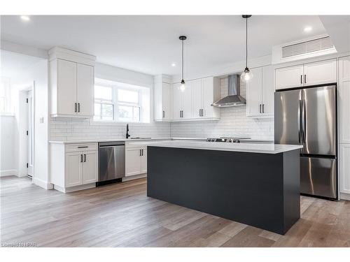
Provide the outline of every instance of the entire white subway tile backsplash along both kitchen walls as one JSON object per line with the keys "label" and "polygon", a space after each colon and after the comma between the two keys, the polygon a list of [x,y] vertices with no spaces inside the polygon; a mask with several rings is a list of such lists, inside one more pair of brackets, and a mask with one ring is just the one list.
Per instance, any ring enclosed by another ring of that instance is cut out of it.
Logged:
{"label": "entire white subway tile backsplash along both kitchen walls", "polygon": [[[227,95],[227,78],[221,79],[221,96]],[[246,96],[241,85],[241,96]],[[153,122],[130,124],[130,135],[141,137],[220,137],[248,136],[253,139],[274,138],[273,119],[246,117],[246,107],[221,108],[219,121]],[[50,120],[50,140],[89,140],[124,138],[126,124],[90,124],[90,119],[57,117]]]}

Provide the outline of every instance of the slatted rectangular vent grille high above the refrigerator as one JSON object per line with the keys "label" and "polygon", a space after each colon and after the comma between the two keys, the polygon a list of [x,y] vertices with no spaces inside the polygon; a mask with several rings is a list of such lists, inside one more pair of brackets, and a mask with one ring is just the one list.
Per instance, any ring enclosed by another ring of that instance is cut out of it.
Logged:
{"label": "slatted rectangular vent grille high above the refrigerator", "polygon": [[282,47],[282,58],[294,57],[300,54],[309,54],[311,52],[327,50],[333,48],[334,45],[329,36],[317,38],[311,41],[286,45]]}

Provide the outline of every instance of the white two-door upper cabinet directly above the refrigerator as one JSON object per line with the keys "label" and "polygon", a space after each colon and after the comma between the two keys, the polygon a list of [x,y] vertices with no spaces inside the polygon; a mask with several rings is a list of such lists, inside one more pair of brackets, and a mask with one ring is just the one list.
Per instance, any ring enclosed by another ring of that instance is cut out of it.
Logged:
{"label": "white two-door upper cabinet directly above the refrigerator", "polygon": [[276,89],[330,84],[334,82],[337,82],[336,59],[277,68],[275,74]]}

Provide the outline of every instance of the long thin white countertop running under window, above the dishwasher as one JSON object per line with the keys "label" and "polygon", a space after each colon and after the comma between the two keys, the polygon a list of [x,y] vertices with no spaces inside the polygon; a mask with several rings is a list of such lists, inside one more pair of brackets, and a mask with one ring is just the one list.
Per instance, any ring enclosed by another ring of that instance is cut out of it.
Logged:
{"label": "long thin white countertop running under window, above the dishwasher", "polygon": [[135,142],[135,141],[150,141],[150,140],[207,140],[207,138],[116,138],[116,139],[93,139],[93,140],[50,140],[52,144],[81,144],[81,143],[99,143],[99,142]]}

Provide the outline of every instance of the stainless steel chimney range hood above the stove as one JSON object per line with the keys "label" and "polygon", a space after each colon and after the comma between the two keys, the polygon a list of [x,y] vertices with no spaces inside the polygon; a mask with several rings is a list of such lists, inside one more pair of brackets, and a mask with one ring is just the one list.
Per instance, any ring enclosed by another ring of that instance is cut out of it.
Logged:
{"label": "stainless steel chimney range hood above the stove", "polygon": [[227,108],[230,106],[245,105],[246,99],[240,95],[239,75],[228,75],[228,96],[212,103],[211,106]]}

